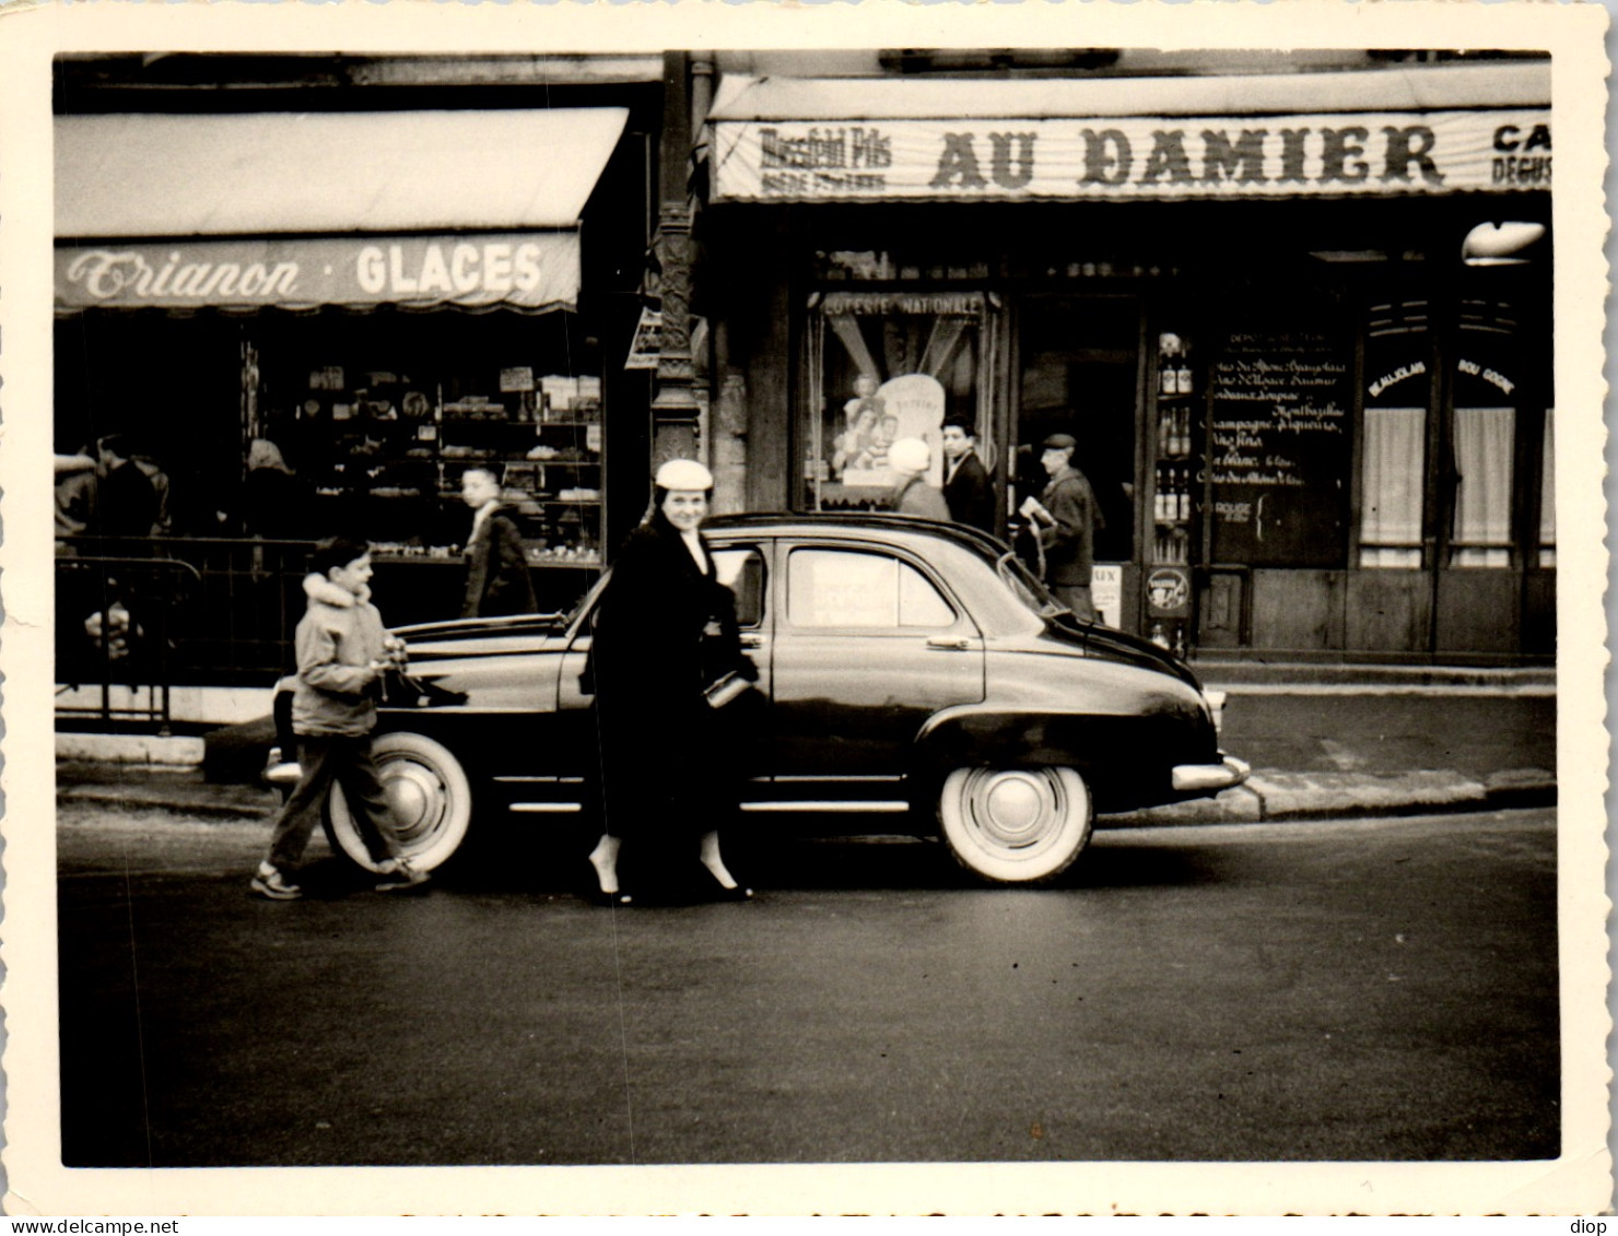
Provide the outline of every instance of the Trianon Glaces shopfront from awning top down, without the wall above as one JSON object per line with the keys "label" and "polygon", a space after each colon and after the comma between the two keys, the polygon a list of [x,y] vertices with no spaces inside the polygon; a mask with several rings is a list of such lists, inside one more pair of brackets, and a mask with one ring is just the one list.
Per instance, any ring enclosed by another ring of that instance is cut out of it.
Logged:
{"label": "Trianon Glaces shopfront from awning top down, without the wall above", "polygon": [[285,542],[291,561],[345,531],[377,545],[390,621],[445,618],[476,466],[540,603],[571,603],[608,535],[608,411],[639,406],[621,417],[639,425],[649,401],[623,366],[634,303],[589,299],[591,272],[644,249],[626,115],[58,116],[57,451],[120,434],[168,480],[155,527],[68,511],[60,547],[157,532],[209,587],[227,542]]}

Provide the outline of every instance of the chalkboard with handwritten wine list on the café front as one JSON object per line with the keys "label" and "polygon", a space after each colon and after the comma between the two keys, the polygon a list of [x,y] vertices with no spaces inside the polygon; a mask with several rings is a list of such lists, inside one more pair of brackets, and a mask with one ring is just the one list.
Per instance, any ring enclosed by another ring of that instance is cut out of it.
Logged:
{"label": "chalkboard with handwritten wine list on the caf\u00e9 front", "polygon": [[1343,338],[1231,330],[1209,377],[1214,561],[1341,566],[1353,461]]}

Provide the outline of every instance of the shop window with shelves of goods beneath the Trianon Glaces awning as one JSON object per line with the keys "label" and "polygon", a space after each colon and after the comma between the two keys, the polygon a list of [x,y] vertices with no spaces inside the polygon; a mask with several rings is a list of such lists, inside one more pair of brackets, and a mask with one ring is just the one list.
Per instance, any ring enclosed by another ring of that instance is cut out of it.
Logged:
{"label": "shop window with shelves of goods beneath the Trianon Glaces awning", "polygon": [[[309,524],[354,529],[382,558],[455,560],[471,527],[461,474],[484,468],[531,566],[599,566],[602,387],[549,369],[558,330],[506,324],[464,349],[354,338],[298,372],[267,362],[262,432],[296,458]],[[385,358],[396,367],[367,367]]]}

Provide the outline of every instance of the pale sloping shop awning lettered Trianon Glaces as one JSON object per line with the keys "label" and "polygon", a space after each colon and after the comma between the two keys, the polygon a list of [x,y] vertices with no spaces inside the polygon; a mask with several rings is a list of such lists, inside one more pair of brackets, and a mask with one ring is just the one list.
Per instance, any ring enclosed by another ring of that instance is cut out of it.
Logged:
{"label": "pale sloping shop awning lettered Trianon Glaces", "polygon": [[625,108],[60,116],[57,304],[566,307]]}

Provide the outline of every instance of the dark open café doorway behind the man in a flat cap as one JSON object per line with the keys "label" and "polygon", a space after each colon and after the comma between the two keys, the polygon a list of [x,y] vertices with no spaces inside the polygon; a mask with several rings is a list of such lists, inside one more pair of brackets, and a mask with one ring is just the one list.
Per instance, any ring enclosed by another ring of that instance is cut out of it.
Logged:
{"label": "dark open caf\u00e9 doorway behind the man in a flat cap", "polygon": [[[1048,477],[1040,443],[1078,440],[1073,466],[1095,490],[1092,582],[1102,621],[1134,631],[1137,409],[1142,398],[1142,306],[1136,296],[1029,296],[1018,307],[1014,416],[1006,443],[1013,510]],[[1013,529],[1016,531],[1016,529]]]}

